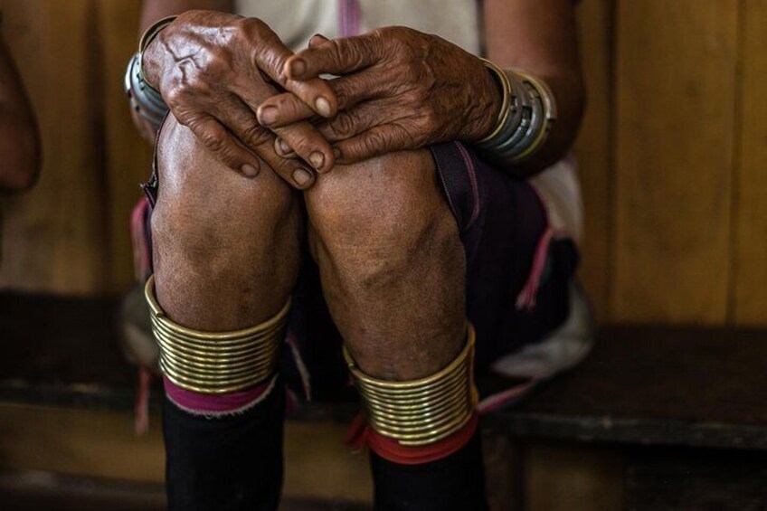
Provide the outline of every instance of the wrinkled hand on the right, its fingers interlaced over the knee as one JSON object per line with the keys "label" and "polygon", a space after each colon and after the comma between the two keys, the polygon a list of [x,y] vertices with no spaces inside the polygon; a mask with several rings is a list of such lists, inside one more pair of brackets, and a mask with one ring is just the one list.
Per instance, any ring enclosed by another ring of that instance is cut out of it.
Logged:
{"label": "wrinkled hand on the right, its fingers interlaced over the knee", "polygon": [[[495,126],[500,109],[500,91],[477,57],[405,27],[333,41],[316,35],[307,50],[288,59],[284,71],[306,83],[323,73],[340,76],[327,81],[338,115],[320,120],[317,128],[344,163],[449,140],[478,140]],[[258,114],[261,125],[270,128],[315,116],[289,93],[261,103]]]}

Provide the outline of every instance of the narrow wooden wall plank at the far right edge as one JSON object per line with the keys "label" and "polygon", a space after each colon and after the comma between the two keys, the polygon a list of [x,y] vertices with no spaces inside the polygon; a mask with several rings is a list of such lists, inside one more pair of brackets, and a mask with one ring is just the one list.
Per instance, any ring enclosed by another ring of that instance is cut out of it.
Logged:
{"label": "narrow wooden wall plank at the far right edge", "polygon": [[767,0],[746,0],[734,320],[767,325]]}

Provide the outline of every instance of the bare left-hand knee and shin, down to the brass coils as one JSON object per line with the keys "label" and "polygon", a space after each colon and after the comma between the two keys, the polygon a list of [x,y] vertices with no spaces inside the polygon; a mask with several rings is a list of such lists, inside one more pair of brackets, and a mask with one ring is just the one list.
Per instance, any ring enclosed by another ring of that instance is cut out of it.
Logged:
{"label": "bare left-hand knee and shin, down to the brass coils", "polygon": [[268,169],[252,179],[232,172],[174,118],[161,132],[157,166],[152,236],[166,312],[208,328],[276,312],[295,281],[302,235],[289,188]]}

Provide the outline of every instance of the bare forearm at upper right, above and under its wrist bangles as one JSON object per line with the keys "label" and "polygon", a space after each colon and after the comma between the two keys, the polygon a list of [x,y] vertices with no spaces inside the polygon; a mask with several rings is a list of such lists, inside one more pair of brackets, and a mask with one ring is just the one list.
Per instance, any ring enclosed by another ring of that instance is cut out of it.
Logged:
{"label": "bare forearm at upper right, above and under its wrist bangles", "polygon": [[543,147],[516,169],[532,175],[560,159],[581,124],[585,91],[573,0],[485,0],[488,59],[534,74],[554,93],[557,118]]}

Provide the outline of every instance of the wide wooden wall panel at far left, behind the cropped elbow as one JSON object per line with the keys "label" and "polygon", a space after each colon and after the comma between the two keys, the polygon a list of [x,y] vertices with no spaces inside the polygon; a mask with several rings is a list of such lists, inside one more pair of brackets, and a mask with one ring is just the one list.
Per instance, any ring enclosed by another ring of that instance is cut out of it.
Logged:
{"label": "wide wooden wall panel at far left, behind the cropped elbow", "polygon": [[29,90],[43,139],[40,183],[4,201],[0,286],[85,293],[103,289],[99,44],[91,0],[2,0],[4,36]]}

